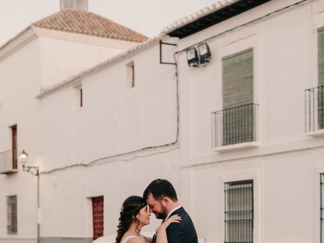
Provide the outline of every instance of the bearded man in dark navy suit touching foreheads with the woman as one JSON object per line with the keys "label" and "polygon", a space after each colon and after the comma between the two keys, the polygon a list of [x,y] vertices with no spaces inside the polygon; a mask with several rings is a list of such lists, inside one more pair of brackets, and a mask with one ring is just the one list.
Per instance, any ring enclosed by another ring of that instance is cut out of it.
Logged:
{"label": "bearded man in dark navy suit touching foreheads with the woman", "polygon": [[[193,223],[178,203],[176,190],[169,181],[163,179],[152,181],[143,192],[143,198],[149,206],[150,213],[153,213],[157,219],[166,220],[175,214],[181,217],[179,223],[172,223],[167,228],[168,243],[198,243]],[[153,236],[152,243],[155,241],[156,234]]]}

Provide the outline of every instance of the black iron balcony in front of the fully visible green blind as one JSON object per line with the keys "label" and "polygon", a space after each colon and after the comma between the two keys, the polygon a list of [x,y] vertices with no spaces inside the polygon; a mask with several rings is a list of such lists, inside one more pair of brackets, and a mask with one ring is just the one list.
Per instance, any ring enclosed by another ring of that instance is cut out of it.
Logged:
{"label": "black iron balcony in front of the fully visible green blind", "polygon": [[226,151],[257,147],[258,104],[212,112],[212,148]]}

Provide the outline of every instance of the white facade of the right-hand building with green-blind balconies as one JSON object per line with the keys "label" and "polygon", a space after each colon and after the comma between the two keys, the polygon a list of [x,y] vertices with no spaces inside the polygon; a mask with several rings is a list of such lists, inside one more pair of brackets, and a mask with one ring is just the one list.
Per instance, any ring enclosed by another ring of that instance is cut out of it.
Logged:
{"label": "white facade of the right-hand building with green-blind balconies", "polygon": [[207,242],[322,242],[323,5],[269,1],[179,41],[211,51],[177,55],[181,199]]}

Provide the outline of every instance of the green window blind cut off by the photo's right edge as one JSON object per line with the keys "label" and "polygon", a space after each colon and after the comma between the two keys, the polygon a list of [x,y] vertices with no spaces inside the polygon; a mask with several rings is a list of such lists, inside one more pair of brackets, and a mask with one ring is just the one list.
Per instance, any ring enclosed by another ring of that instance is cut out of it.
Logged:
{"label": "green window blind cut off by the photo's right edge", "polygon": [[318,91],[317,91],[317,104],[318,104],[318,128],[324,128],[324,28],[317,30],[317,68],[318,68]]}

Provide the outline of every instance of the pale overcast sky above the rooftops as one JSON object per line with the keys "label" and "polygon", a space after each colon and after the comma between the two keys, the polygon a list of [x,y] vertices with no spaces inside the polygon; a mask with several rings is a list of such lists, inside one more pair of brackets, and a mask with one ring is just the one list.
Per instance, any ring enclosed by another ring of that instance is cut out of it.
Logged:
{"label": "pale overcast sky above the rooftops", "polygon": [[[88,0],[88,10],[148,37],[218,0]],[[0,46],[32,22],[60,10],[60,0],[0,0]]]}

